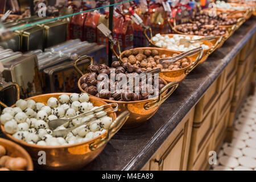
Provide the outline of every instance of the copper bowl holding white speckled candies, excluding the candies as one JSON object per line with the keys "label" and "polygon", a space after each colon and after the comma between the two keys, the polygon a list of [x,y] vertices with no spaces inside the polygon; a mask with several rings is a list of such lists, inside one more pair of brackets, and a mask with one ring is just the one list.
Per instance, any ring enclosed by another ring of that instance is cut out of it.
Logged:
{"label": "copper bowl holding white speckled candies, excluding the candies", "polygon": [[[26,100],[32,99],[35,102],[47,104],[47,100],[50,97],[58,98],[61,94],[70,95],[71,93],[43,94],[27,98]],[[106,105],[106,102],[97,97],[90,97],[90,102],[92,102],[94,106]],[[14,105],[11,107],[14,107]],[[122,127],[123,123],[125,123],[126,119],[129,117],[129,113],[127,111],[123,112],[118,117],[116,117],[115,113],[111,113],[109,114],[109,117],[113,118],[113,128],[111,125],[108,131],[96,138],[67,146],[38,146],[36,144],[29,144],[7,134],[3,125],[1,125],[1,129],[8,138],[14,140],[14,142],[20,144],[29,152],[36,167],[49,170],[79,169],[84,167],[100,154],[110,138],[112,138],[113,135]],[[40,156],[42,156],[42,153],[39,153],[40,151],[46,152],[46,164],[39,165],[38,163]]]}

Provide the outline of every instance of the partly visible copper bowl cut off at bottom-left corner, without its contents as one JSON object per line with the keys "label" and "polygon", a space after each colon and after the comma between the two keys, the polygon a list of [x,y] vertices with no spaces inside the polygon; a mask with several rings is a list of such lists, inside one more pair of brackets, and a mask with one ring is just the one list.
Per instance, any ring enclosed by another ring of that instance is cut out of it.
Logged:
{"label": "partly visible copper bowl cut off at bottom-left corner, without its contents", "polygon": [[18,144],[11,142],[10,140],[6,140],[3,138],[0,138],[0,145],[6,148],[8,156],[11,156],[13,158],[23,158],[27,160],[27,171],[33,171],[33,162],[26,150],[24,148],[20,147]]}

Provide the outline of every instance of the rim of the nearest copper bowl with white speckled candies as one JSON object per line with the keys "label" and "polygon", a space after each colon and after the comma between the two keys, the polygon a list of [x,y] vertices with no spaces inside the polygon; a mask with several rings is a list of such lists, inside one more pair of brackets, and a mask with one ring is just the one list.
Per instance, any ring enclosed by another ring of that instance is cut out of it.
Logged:
{"label": "rim of the nearest copper bowl with white speckled candies", "polygon": [[[56,94],[67,94],[67,95],[70,95],[70,94],[72,94],[72,93],[65,93],[65,92],[60,92],[60,93],[48,93],[48,94],[41,94],[41,95],[39,95],[39,96],[54,96],[54,95],[56,95]],[[35,98],[35,97],[38,97],[38,96],[33,96],[33,97],[29,97],[29,98],[26,98],[25,100],[29,100],[29,99],[32,99],[33,100],[33,98]],[[98,98],[98,97],[92,97],[92,96],[89,96],[89,98],[92,98],[93,100],[99,100],[99,101],[102,101],[100,98]],[[105,102],[105,101],[103,101],[103,102]],[[108,103],[105,103],[105,104],[108,104]],[[14,105],[12,105],[11,107],[14,107],[15,106],[15,104]],[[117,117],[117,115],[116,115],[116,113],[113,113],[114,114],[114,119]],[[15,142],[17,142],[17,143],[21,143],[21,144],[23,144],[24,146],[27,146],[27,147],[34,147],[34,148],[47,148],[47,149],[53,149],[53,148],[69,148],[69,147],[76,147],[76,146],[80,146],[80,145],[82,145],[82,144],[86,144],[86,143],[92,143],[94,140],[97,140],[97,139],[99,139],[99,138],[102,138],[102,137],[104,137],[104,135],[105,134],[107,134],[107,132],[108,132],[108,130],[106,130],[103,134],[101,134],[101,135],[98,135],[98,137],[95,137],[95,138],[93,138],[93,139],[90,139],[90,140],[87,140],[87,141],[85,141],[85,142],[81,142],[81,143],[75,143],[75,144],[67,144],[67,145],[65,145],[65,146],[39,146],[39,145],[37,145],[37,144],[30,144],[30,143],[27,143],[27,142],[23,142],[22,140],[18,140],[18,139],[16,139],[16,138],[14,138],[11,134],[7,134],[6,133],[6,131],[5,131],[5,129],[4,129],[4,127],[3,127],[3,125],[1,124],[1,129],[2,129],[2,132],[7,136],[7,137],[9,137],[11,140],[14,140]]]}

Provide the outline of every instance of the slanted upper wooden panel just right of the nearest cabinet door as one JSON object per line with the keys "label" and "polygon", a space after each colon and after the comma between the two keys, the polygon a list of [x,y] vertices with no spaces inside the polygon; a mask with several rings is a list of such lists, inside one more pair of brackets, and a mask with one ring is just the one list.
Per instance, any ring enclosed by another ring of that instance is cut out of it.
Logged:
{"label": "slanted upper wooden panel just right of the nearest cabinet door", "polygon": [[205,116],[208,114],[213,105],[216,105],[216,101],[221,93],[221,85],[222,85],[222,76],[221,74],[216,81],[209,87],[207,92],[205,92],[204,96],[200,99],[200,101],[196,104],[195,107],[195,116],[194,123],[200,123],[203,121]]}

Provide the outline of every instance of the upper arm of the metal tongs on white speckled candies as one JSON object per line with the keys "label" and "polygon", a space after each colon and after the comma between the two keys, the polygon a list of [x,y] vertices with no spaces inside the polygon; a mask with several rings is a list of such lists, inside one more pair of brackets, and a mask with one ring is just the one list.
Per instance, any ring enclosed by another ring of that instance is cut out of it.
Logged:
{"label": "upper arm of the metal tongs on white speckled candies", "polygon": [[[113,109],[111,107],[113,107]],[[109,109],[109,110],[107,110],[107,109]],[[86,115],[97,114],[98,112],[103,111],[103,110],[105,112],[108,112],[108,111],[115,112],[115,111],[118,110],[118,104],[117,103],[111,103],[111,104],[107,104],[107,105],[104,105],[104,106],[100,106],[98,108],[86,111],[85,113],[76,115],[76,116],[71,117],[71,118],[53,119],[53,120],[48,122],[48,125],[49,125],[50,129],[54,130],[59,126],[64,125],[65,123],[67,123],[69,121],[72,121],[73,119],[85,117]]]}

